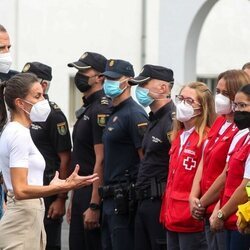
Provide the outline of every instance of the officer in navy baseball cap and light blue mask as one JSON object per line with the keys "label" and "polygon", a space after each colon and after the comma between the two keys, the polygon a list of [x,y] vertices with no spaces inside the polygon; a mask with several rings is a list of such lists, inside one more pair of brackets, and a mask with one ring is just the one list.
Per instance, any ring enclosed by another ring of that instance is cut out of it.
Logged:
{"label": "officer in navy baseball cap and light blue mask", "polygon": [[103,249],[134,248],[133,183],[142,157],[141,141],[148,117],[130,96],[128,81],[133,66],[123,60],[109,60],[104,91],[112,98],[114,111],[103,134],[104,186]]}

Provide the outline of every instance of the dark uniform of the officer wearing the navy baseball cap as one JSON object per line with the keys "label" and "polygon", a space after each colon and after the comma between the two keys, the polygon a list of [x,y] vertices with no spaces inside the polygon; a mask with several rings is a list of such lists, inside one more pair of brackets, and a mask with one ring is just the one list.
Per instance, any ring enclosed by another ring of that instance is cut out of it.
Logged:
{"label": "dark uniform of the officer wearing the navy baseball cap", "polygon": [[131,97],[114,107],[104,133],[103,249],[134,248],[128,186],[135,181],[147,114]]}

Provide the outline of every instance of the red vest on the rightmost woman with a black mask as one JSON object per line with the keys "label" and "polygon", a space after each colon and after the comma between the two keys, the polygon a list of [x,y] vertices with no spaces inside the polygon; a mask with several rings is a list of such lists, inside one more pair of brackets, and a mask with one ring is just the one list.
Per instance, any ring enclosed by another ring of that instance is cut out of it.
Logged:
{"label": "red vest on the rightmost woman with a black mask", "polygon": [[[243,145],[246,138],[247,135],[244,135],[239,140],[228,162],[227,179],[224,194],[221,200],[221,207],[227,203],[244,178],[245,163],[250,152],[250,140],[248,140],[245,145]],[[237,230],[237,216],[235,213],[225,221],[224,226],[226,229]]]}

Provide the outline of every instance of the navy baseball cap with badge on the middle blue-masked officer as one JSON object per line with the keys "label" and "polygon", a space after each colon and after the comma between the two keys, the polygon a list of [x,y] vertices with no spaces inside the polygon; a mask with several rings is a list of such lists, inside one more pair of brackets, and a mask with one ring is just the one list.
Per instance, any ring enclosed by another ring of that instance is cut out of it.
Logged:
{"label": "navy baseball cap with badge on the middle blue-masked officer", "polygon": [[134,77],[135,72],[131,63],[124,60],[110,59],[102,75],[111,79],[118,79],[122,76]]}

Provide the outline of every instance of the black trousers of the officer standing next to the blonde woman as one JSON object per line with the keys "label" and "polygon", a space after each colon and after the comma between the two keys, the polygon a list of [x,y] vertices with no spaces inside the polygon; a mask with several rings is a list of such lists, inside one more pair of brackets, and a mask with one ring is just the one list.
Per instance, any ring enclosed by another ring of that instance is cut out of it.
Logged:
{"label": "black trousers of the officer standing next to the blonde woman", "polygon": [[138,202],[135,217],[135,250],[166,250],[166,230],[159,222],[161,199]]}

